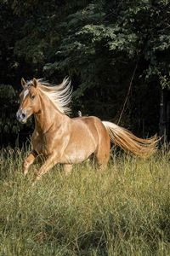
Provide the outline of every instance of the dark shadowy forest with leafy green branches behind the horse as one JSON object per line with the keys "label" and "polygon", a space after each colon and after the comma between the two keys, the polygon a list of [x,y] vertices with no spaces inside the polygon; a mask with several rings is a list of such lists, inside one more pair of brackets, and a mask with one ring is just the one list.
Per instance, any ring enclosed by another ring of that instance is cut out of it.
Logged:
{"label": "dark shadowy forest with leafy green branches behind the horse", "polygon": [[159,131],[170,86],[168,0],[1,0],[0,145],[33,129],[15,119],[20,79],[70,76],[72,116],[96,115],[139,136]]}

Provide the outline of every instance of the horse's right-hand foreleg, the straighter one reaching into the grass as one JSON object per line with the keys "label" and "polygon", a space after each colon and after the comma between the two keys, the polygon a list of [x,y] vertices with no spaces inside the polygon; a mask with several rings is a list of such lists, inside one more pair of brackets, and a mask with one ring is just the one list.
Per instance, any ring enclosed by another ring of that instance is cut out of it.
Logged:
{"label": "horse's right-hand foreleg, the straighter one reaching into the grass", "polygon": [[[54,165],[59,163],[59,157],[56,154],[50,154],[48,155],[46,161],[42,165],[42,167],[37,172],[37,177],[35,179],[35,182],[41,178],[43,174],[48,172]],[[35,183],[34,182],[34,183]]]}

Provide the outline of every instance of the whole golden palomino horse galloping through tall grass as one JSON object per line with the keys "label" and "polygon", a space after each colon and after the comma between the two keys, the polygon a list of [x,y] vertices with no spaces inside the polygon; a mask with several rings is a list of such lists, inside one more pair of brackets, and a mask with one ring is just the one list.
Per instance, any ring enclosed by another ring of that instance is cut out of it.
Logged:
{"label": "whole golden palomino horse galloping through tall grass", "polygon": [[32,150],[23,163],[23,172],[42,154],[45,162],[37,172],[36,180],[55,164],[64,164],[65,172],[72,164],[81,163],[94,154],[100,168],[107,165],[111,142],[124,150],[148,156],[156,149],[156,136],[136,137],[130,131],[94,116],[70,118],[71,82],[64,79],[51,85],[42,79],[21,79],[20,108],[16,114],[21,123],[34,114],[35,130],[31,137]]}

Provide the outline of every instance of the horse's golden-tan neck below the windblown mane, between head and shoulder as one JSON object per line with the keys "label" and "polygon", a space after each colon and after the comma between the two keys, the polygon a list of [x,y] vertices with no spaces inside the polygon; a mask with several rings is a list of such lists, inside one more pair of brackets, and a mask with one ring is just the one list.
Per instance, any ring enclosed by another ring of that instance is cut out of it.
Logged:
{"label": "horse's golden-tan neck below the windblown mane, between head and shoulder", "polygon": [[47,96],[40,96],[40,102],[41,110],[34,114],[35,128],[38,132],[45,133],[49,131],[54,123],[60,126],[66,115],[59,112]]}

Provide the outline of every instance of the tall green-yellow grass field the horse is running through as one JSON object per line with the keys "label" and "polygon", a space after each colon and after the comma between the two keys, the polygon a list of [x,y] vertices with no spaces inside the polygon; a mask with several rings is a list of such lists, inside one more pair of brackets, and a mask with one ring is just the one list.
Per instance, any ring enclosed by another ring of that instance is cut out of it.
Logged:
{"label": "tall green-yellow grass field the horse is running through", "polygon": [[32,187],[37,165],[0,152],[0,255],[170,255],[170,154],[113,155],[105,172],[60,166]]}

